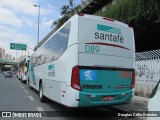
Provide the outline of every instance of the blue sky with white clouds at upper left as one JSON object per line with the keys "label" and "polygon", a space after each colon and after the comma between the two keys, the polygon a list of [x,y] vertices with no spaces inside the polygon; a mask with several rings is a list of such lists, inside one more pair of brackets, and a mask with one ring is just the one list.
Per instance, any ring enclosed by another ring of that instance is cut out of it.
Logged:
{"label": "blue sky with white clouds at upper left", "polygon": [[[31,55],[37,44],[38,7],[40,5],[39,41],[53,28],[52,23],[61,17],[60,9],[69,0],[0,0],[0,47],[7,54],[19,58],[21,50],[11,50],[10,43],[27,44]],[[75,6],[81,0],[73,0]]]}

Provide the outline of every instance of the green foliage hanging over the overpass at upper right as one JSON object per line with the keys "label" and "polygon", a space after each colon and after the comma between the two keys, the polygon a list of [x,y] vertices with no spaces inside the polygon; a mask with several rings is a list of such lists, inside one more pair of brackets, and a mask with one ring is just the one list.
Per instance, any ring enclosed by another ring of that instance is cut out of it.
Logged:
{"label": "green foliage hanging over the overpass at upper right", "polygon": [[117,0],[107,10],[97,14],[128,24],[145,24],[160,19],[159,0]]}

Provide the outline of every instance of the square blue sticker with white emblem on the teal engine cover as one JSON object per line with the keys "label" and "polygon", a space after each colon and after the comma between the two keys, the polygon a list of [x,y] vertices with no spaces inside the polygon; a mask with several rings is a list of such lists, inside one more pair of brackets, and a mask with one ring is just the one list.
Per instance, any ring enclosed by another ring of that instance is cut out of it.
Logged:
{"label": "square blue sticker with white emblem on the teal engine cover", "polygon": [[97,72],[96,70],[81,70],[80,79],[81,80],[96,80]]}

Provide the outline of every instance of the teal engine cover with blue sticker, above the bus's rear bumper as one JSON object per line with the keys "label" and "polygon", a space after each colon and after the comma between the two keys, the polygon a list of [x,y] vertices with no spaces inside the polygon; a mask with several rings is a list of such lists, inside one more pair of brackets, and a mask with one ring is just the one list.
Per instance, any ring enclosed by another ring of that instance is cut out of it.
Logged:
{"label": "teal engine cover with blue sticker, above the bus's rear bumper", "polygon": [[81,89],[88,93],[124,92],[131,88],[131,69],[80,67]]}

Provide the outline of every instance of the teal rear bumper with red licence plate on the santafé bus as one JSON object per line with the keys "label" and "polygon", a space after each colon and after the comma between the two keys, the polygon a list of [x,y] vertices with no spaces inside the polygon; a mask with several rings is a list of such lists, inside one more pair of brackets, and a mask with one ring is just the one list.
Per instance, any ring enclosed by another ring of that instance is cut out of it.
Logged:
{"label": "teal rear bumper with red licence plate on the santaf\u00e9 bus", "polygon": [[79,92],[78,107],[126,104],[131,102],[134,90],[115,93]]}

